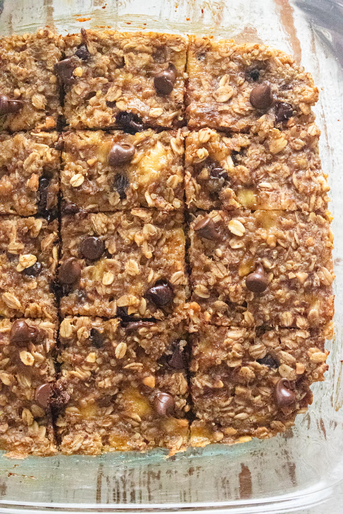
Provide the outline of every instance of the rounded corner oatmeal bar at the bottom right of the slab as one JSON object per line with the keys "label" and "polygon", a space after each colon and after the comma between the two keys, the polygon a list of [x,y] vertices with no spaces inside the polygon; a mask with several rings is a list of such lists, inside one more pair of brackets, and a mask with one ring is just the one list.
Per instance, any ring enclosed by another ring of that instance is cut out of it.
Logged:
{"label": "rounded corner oatmeal bar at the bottom right of the slab", "polygon": [[191,445],[266,439],[312,403],[312,382],[328,370],[317,329],[204,325],[193,334]]}

